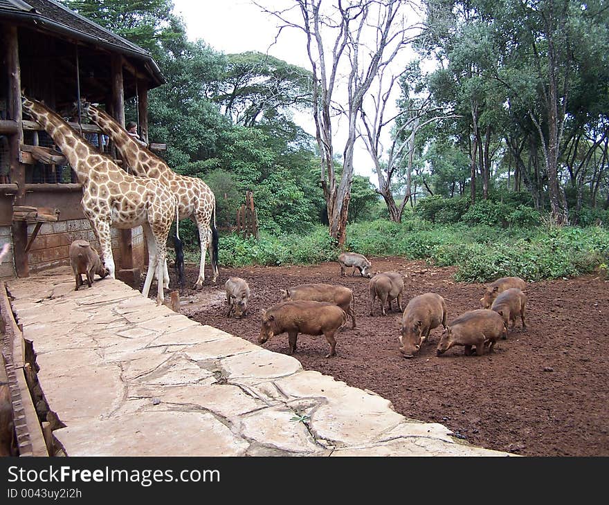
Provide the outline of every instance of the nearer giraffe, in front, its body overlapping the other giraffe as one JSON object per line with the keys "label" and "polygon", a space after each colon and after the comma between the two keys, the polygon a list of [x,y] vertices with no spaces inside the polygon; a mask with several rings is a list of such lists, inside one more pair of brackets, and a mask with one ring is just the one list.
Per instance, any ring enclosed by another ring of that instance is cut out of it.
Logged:
{"label": "nearer giraffe, in front, its body overlapping the other giraffe", "polygon": [[116,278],[110,227],[141,225],[151,260],[142,294],[148,296],[152,277],[156,275],[156,304],[163,304],[163,287],[169,287],[169,278],[163,271],[167,236],[173,220],[176,219],[176,224],[178,221],[176,196],[156,179],[127,174],[42,102],[24,96],[22,103],[24,111],[53,138],[76,172],[82,184],[82,210],[98,238],[109,276]]}

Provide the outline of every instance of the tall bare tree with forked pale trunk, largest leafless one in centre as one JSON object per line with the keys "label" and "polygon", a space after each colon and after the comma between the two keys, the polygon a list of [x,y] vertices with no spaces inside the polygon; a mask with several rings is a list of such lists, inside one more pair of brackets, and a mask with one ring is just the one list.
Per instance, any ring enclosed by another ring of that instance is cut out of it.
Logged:
{"label": "tall bare tree with forked pale trunk, largest leafless one in centre", "polygon": [[[409,2],[292,1],[291,7],[285,10],[260,7],[280,19],[280,31],[298,28],[305,34],[313,72],[313,118],[321,155],[320,181],[327,204],[329,233],[342,246],[354,174],[358,113],[379,68],[386,66],[409,42],[407,33],[413,29],[406,26],[405,21]],[[335,98],[339,94],[341,98]],[[347,122],[340,171],[334,167],[333,138],[338,118]]]}

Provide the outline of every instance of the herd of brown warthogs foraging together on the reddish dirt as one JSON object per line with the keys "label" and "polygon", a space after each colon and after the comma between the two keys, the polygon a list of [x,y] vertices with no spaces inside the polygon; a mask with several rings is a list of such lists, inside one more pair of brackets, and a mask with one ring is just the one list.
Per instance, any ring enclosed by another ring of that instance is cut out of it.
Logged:
{"label": "herd of brown warthogs foraging together on the reddish dirt", "polygon": [[[338,257],[340,276],[345,268],[352,267],[361,277],[370,279],[370,315],[374,315],[374,302],[379,300],[381,314],[392,310],[393,300],[402,313],[399,334],[399,352],[405,358],[413,358],[421,345],[429,341],[430,331],[442,326],[444,331],[437,345],[437,356],[455,345],[464,347],[464,354],[478,356],[492,352],[497,340],[507,338],[509,322],[511,329],[520,318],[526,328],[525,306],[527,296],[522,291],[527,283],[519,277],[502,277],[491,283],[480,299],[482,309],[462,313],[447,321],[446,302],[437,293],[422,293],[413,297],[406,307],[402,305],[404,279],[398,272],[372,273],[372,264],[363,255],[343,252]],[[235,317],[246,315],[250,289],[240,277],[230,277],[226,282],[227,317],[233,311]],[[262,310],[262,327],[258,342],[280,333],[287,333],[289,354],[296,352],[299,333],[324,335],[330,350],[326,358],[336,356],[336,333],[347,325],[347,318],[356,327],[355,298],[353,291],[340,284],[300,284],[282,290],[281,301]]]}

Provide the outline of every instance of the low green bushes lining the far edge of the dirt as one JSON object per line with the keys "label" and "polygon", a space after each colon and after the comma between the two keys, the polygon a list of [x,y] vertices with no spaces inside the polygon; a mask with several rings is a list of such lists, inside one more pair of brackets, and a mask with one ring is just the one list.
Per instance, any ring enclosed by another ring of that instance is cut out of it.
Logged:
{"label": "low green bushes lining the far edge of the dirt", "polygon": [[[275,237],[266,232],[259,240],[221,236],[219,248],[220,264],[231,267],[318,264],[336,261],[340,252],[325,226],[316,226],[305,236]],[[367,257],[401,256],[457,266],[459,282],[489,282],[511,275],[537,281],[592,273],[609,264],[609,230],[434,226],[411,215],[404,223],[377,220],[350,225],[345,249]]]}

